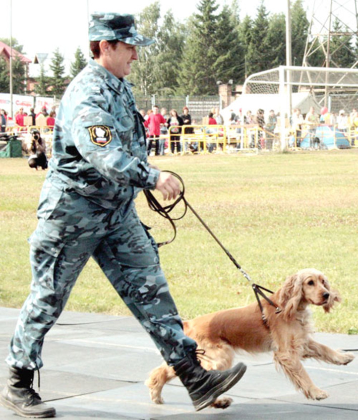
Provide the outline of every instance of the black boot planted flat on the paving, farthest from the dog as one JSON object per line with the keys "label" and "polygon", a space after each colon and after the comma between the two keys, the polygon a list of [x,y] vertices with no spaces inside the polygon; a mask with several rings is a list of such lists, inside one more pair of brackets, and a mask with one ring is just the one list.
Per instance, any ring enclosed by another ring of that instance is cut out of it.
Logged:
{"label": "black boot planted flat on the paving, farthest from the dog", "polygon": [[44,404],[32,388],[33,379],[34,371],[10,368],[10,377],[0,394],[0,402],[22,417],[54,417],[55,409]]}

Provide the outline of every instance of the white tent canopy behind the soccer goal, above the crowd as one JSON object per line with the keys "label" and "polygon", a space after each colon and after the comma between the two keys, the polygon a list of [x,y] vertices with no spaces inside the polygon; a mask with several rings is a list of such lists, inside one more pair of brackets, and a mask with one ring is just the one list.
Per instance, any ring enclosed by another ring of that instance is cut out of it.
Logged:
{"label": "white tent canopy behind the soccer goal, above the crowd", "polygon": [[[268,94],[242,94],[235,99],[229,106],[221,110],[221,115],[224,118],[225,123],[228,123],[231,112],[240,114],[242,109],[242,115],[245,115],[247,111],[251,111],[253,115],[256,115],[258,109],[265,111],[265,119],[268,117],[271,109],[277,114],[280,112],[282,95],[278,93]],[[317,103],[313,95],[309,92],[292,93],[291,95],[292,109],[300,108],[302,114],[306,114],[311,106],[314,106],[316,111],[319,112],[320,105]],[[286,115],[287,116],[287,115]],[[289,115],[288,115],[289,116]]]}

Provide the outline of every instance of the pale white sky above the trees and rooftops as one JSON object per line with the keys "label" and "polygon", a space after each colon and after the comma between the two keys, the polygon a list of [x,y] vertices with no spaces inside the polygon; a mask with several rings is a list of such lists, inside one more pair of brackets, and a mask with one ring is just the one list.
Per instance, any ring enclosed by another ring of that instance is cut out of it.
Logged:
{"label": "pale white sky above the trees and rooftops", "polygon": [[[309,0],[305,0],[305,2]],[[50,53],[58,47],[67,60],[73,61],[78,46],[88,53],[88,14],[93,12],[140,13],[154,3],[151,0],[59,0],[51,3],[42,0],[2,0],[0,37],[12,36],[24,46],[25,55],[33,58],[36,53]],[[228,4],[231,1],[228,0]],[[161,0],[161,14],[169,9],[175,18],[184,21],[197,12],[198,0]],[[217,4],[223,5],[224,1]],[[243,17],[256,15],[260,0],[238,1]],[[285,0],[264,0],[270,13],[284,12]],[[12,6],[12,7],[11,7]],[[12,13],[11,13],[12,11]],[[10,27],[10,16],[12,26]]]}

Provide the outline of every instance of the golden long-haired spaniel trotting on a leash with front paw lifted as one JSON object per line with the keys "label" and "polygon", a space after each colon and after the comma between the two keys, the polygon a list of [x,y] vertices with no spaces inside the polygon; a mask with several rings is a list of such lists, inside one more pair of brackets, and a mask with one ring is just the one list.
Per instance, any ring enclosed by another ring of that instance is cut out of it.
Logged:
{"label": "golden long-haired spaniel trotting on a leash with front paw lifted", "polygon": [[[205,350],[201,360],[207,370],[226,370],[231,367],[235,351],[251,353],[273,351],[276,368],[281,368],[296,389],[307,398],[324,399],[328,394],[314,385],[301,360],[313,357],[334,365],[346,365],[354,358],[352,353],[332,350],[312,339],[308,306],[322,306],[329,312],[335,302],[340,302],[337,291],[332,290],[323,273],[304,269],[288,277],[283,286],[270,297],[281,309],[262,301],[262,321],[257,303],[244,308],[214,312],[184,322],[185,333],[196,340],[198,348]],[[152,401],[162,404],[161,390],[174,378],[173,368],[163,363],[150,374],[146,385]],[[225,408],[231,398],[220,397],[213,406]]]}

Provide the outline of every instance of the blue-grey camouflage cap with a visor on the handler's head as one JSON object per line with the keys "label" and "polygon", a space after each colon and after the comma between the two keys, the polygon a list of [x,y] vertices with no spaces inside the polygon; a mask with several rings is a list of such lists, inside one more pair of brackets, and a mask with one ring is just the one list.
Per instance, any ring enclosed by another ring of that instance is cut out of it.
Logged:
{"label": "blue-grey camouflage cap with a visor on the handler's head", "polygon": [[140,35],[134,25],[133,15],[118,13],[94,13],[89,24],[90,41],[117,39],[131,45],[150,45],[154,41]]}

